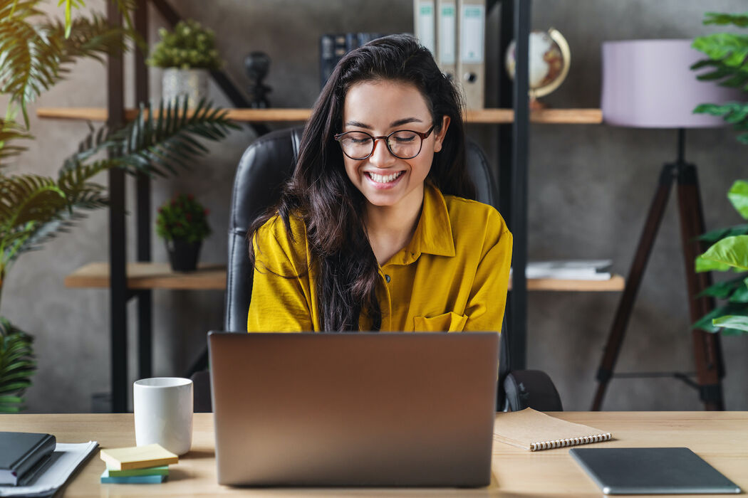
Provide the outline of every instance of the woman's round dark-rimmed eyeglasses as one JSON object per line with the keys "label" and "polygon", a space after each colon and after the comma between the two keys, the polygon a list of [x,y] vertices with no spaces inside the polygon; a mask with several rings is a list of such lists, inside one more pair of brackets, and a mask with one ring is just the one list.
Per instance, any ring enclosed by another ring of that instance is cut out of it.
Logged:
{"label": "woman's round dark-rimmed eyeglasses", "polygon": [[373,137],[366,131],[346,131],[334,136],[340,142],[343,154],[354,161],[370,158],[374,153],[376,141],[380,138],[387,144],[390,154],[399,159],[412,159],[420,153],[423,140],[429,138],[434,126],[426,133],[413,130],[397,130],[382,137]]}

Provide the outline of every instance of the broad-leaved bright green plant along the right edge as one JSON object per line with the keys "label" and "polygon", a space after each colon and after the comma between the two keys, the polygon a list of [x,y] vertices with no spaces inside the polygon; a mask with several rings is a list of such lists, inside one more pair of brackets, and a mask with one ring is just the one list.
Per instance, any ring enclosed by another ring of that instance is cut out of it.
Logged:
{"label": "broad-leaved bright green plant along the right edge", "polygon": [[[704,24],[735,25],[748,27],[748,13],[726,14],[707,13]],[[700,60],[691,69],[710,67],[708,74],[700,75],[703,80],[720,81],[726,87],[740,88],[748,92],[748,36],[737,33],[717,33],[697,37],[693,48],[704,52],[708,59]],[[724,105],[702,104],[695,113],[708,113],[723,116],[732,123],[741,143],[748,144],[748,102],[729,102]],[[748,181],[738,180],[727,194],[730,202],[744,220],[748,220]],[[748,224],[710,231],[702,237],[711,243],[707,251],[696,258],[696,271],[729,271],[741,273],[735,278],[721,281],[704,290],[703,295],[724,299],[726,303],[715,308],[693,324],[707,332],[723,334],[744,334],[748,332]]]}

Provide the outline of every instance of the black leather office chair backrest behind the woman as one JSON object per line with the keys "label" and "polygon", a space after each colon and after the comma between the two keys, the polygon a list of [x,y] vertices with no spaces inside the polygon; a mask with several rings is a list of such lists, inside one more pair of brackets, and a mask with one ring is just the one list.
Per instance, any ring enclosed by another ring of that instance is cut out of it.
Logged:
{"label": "black leather office chair backrest behind the woman", "polygon": [[[225,330],[246,330],[253,276],[248,261],[247,229],[259,214],[278,202],[283,183],[293,172],[302,131],[302,128],[287,128],[263,135],[248,146],[239,161],[230,208]],[[496,185],[485,154],[470,140],[465,152],[468,174],[476,186],[476,200],[497,208]],[[506,332],[506,326],[503,330]],[[502,333],[499,385],[509,372],[508,340],[507,334]]]}

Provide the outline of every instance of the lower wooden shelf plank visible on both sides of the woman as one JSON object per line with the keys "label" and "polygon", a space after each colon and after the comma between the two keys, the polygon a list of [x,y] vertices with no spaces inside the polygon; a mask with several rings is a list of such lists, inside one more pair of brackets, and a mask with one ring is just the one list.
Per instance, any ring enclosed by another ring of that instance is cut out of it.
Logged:
{"label": "lower wooden shelf plank visible on both sides of the woman", "polygon": [[[509,288],[512,288],[511,281]],[[610,280],[557,280],[528,278],[527,290],[558,290],[571,292],[604,292],[623,290],[620,275]],[[65,287],[109,287],[109,264],[89,263],[65,277]],[[197,271],[174,273],[168,263],[128,263],[129,289],[207,289],[226,288],[226,265],[200,264]]]}

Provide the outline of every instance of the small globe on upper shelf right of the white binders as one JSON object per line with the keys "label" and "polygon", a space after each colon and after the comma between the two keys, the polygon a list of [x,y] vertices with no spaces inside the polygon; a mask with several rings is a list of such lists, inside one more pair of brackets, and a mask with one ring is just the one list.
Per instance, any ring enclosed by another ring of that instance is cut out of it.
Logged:
{"label": "small globe on upper shelf right of the white binders", "polygon": [[[515,41],[506,48],[504,60],[509,78],[514,79],[516,63]],[[530,99],[548,95],[566,78],[571,64],[571,52],[562,34],[554,28],[531,31],[529,46]]]}

